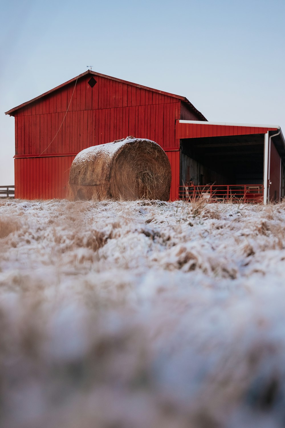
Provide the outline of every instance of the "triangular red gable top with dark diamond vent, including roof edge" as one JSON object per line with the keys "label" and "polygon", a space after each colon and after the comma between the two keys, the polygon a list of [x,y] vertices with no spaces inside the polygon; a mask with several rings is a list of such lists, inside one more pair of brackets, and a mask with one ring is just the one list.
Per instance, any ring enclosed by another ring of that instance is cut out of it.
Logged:
{"label": "triangular red gable top with dark diamond vent, including roof edge", "polygon": [[[89,81],[90,83],[88,84]],[[73,111],[109,107],[129,107],[147,104],[165,104],[182,101],[186,110],[191,111],[196,120],[206,120],[203,114],[200,113],[185,97],[160,91],[159,89],[138,85],[137,83],[128,82],[126,80],[117,79],[105,74],[96,73],[91,70],[79,74],[79,76],[62,83],[62,85],[56,86],[56,88],[53,88],[30,101],[26,101],[25,103],[12,108],[5,114],[9,114],[10,116],[22,116],[35,113],[41,114],[41,110],[46,113],[59,113],[66,111],[67,105],[65,98],[68,99],[70,90],[71,93],[73,92],[74,83],[76,83],[77,87],[73,94],[74,101],[71,106],[71,110]],[[95,89],[94,94],[92,94],[88,88],[90,87],[93,89],[95,85],[97,85],[97,90]],[[100,97],[99,87],[102,92],[102,96]],[[58,94],[56,96],[56,92],[58,91],[62,94],[61,99],[59,99]],[[86,94],[85,96],[84,92]],[[77,99],[78,93],[80,101]],[[81,97],[82,94],[83,96]],[[47,99],[50,101],[47,102]],[[34,108],[35,110],[33,110]]]}

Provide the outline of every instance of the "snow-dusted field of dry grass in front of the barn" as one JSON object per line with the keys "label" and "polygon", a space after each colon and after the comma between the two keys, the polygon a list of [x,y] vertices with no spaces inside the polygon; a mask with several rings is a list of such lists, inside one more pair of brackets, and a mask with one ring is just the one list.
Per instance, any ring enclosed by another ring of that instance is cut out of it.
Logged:
{"label": "snow-dusted field of dry grass in front of the barn", "polygon": [[1,428],[285,426],[285,204],[0,201]]}

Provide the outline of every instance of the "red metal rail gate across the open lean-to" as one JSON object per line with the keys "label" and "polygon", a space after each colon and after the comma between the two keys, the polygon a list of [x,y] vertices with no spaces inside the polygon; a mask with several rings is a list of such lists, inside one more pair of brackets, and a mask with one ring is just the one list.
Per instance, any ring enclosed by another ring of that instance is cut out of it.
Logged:
{"label": "red metal rail gate across the open lean-to", "polygon": [[207,202],[255,202],[263,201],[262,184],[225,184],[206,186],[179,186],[179,199],[192,201],[197,198],[206,199]]}

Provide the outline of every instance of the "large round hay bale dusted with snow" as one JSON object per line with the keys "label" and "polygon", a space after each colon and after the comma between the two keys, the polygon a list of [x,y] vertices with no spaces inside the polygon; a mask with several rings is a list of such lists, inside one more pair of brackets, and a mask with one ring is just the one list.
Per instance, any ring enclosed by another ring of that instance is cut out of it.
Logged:
{"label": "large round hay bale dusted with snow", "polygon": [[169,199],[170,163],[154,141],[127,137],[82,150],[69,174],[69,198]]}

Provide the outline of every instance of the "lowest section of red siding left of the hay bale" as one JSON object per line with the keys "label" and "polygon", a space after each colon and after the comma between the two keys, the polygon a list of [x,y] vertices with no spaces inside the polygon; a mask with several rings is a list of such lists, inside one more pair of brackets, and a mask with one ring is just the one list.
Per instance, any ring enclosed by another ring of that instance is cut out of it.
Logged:
{"label": "lowest section of red siding left of the hay bale", "polygon": [[67,195],[73,156],[15,159],[15,198],[53,199]]}

